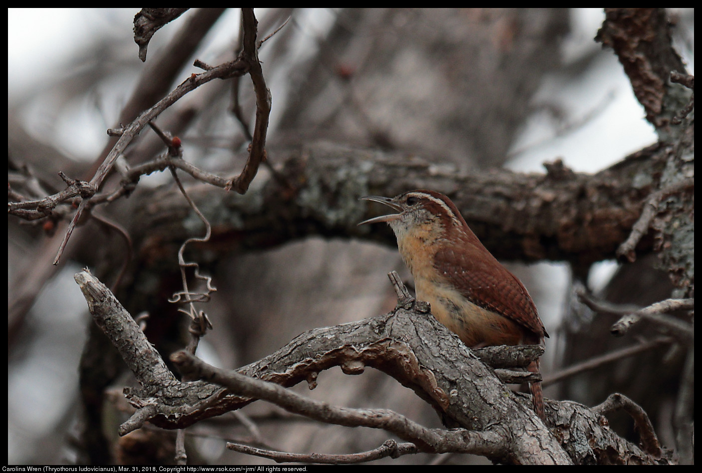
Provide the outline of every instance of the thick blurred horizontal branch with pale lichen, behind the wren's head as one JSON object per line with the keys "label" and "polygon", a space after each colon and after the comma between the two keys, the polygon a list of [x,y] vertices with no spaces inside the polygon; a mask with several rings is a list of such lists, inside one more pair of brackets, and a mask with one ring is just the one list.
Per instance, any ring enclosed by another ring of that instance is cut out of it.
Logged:
{"label": "thick blurred horizontal branch with pale lichen, behind the wren's head", "polygon": [[[191,195],[218,228],[219,243],[229,240],[227,251],[260,249],[314,234],[376,239],[394,246],[390,229],[371,232],[356,226],[376,210],[358,199],[429,188],[449,194],[498,259],[587,264],[616,258],[616,249],[656,186],[668,152],[649,147],[595,175],[507,170],[465,174],[404,154],[311,143],[276,150],[282,159],[276,169],[295,183],[293,187],[261,175],[247,199],[201,186]],[[133,229],[136,234],[150,240],[159,235],[161,245],[187,238],[185,227],[159,229],[164,217],[178,225],[187,215],[187,208],[170,199],[169,193],[135,192],[133,218],[140,222]],[[147,207],[150,212],[143,214]],[[135,235],[135,240],[140,237]],[[651,245],[651,239],[641,239],[637,251],[651,251]]]}

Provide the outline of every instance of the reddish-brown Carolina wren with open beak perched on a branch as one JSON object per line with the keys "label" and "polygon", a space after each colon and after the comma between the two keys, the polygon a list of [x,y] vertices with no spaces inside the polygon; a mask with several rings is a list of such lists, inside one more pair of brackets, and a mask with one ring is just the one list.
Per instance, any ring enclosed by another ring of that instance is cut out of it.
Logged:
{"label": "reddish-brown Carolina wren with open beak perched on a branch", "polygon": [[[414,278],[418,300],[468,347],[540,345],[548,338],[534,301],[517,277],[480,243],[444,194],[413,190],[390,199],[367,196],[396,213],[359,223],[388,222]],[[538,373],[538,361],[527,369]],[[543,414],[541,382],[531,383],[534,411]]]}

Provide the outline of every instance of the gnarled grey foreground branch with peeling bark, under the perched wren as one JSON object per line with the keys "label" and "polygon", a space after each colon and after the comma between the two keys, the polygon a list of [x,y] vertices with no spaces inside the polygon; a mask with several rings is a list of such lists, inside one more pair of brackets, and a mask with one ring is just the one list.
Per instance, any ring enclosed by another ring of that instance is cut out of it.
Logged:
{"label": "gnarled grey foreground branch with peeling bark, under the perched wren", "polygon": [[[527,399],[519,399],[506,389],[493,371],[434,317],[414,308],[398,307],[382,317],[314,329],[236,372],[206,367],[185,352],[176,357],[179,363],[197,363],[200,375],[222,382],[232,389],[230,392],[204,382],[174,382],[143,334],[130,335],[139,331],[138,326],[107,288],[87,272],[77,274],[76,279],[101,328],[115,346],[123,347],[123,357],[135,360],[128,361],[133,371],[144,373],[138,375],[141,388],[124,390],[138,411],[121,427],[121,434],[145,420],[165,428],[182,428],[241,408],[258,397],[293,412],[318,412],[312,418],[319,414],[325,422],[388,429],[411,439],[423,451],[470,451],[511,463],[668,462],[663,453],[646,453],[620,439],[602,427],[595,413],[567,401],[547,404],[549,421],[570,430],[567,441],[557,441],[531,411]],[[141,357],[134,354],[140,352],[153,360],[135,366]],[[154,366],[158,369],[150,375]],[[432,404],[444,422],[467,430],[426,429],[390,411],[322,406],[284,389],[332,366],[341,366],[347,373],[359,373],[366,366],[388,373]],[[583,441],[588,448],[583,448]]]}

